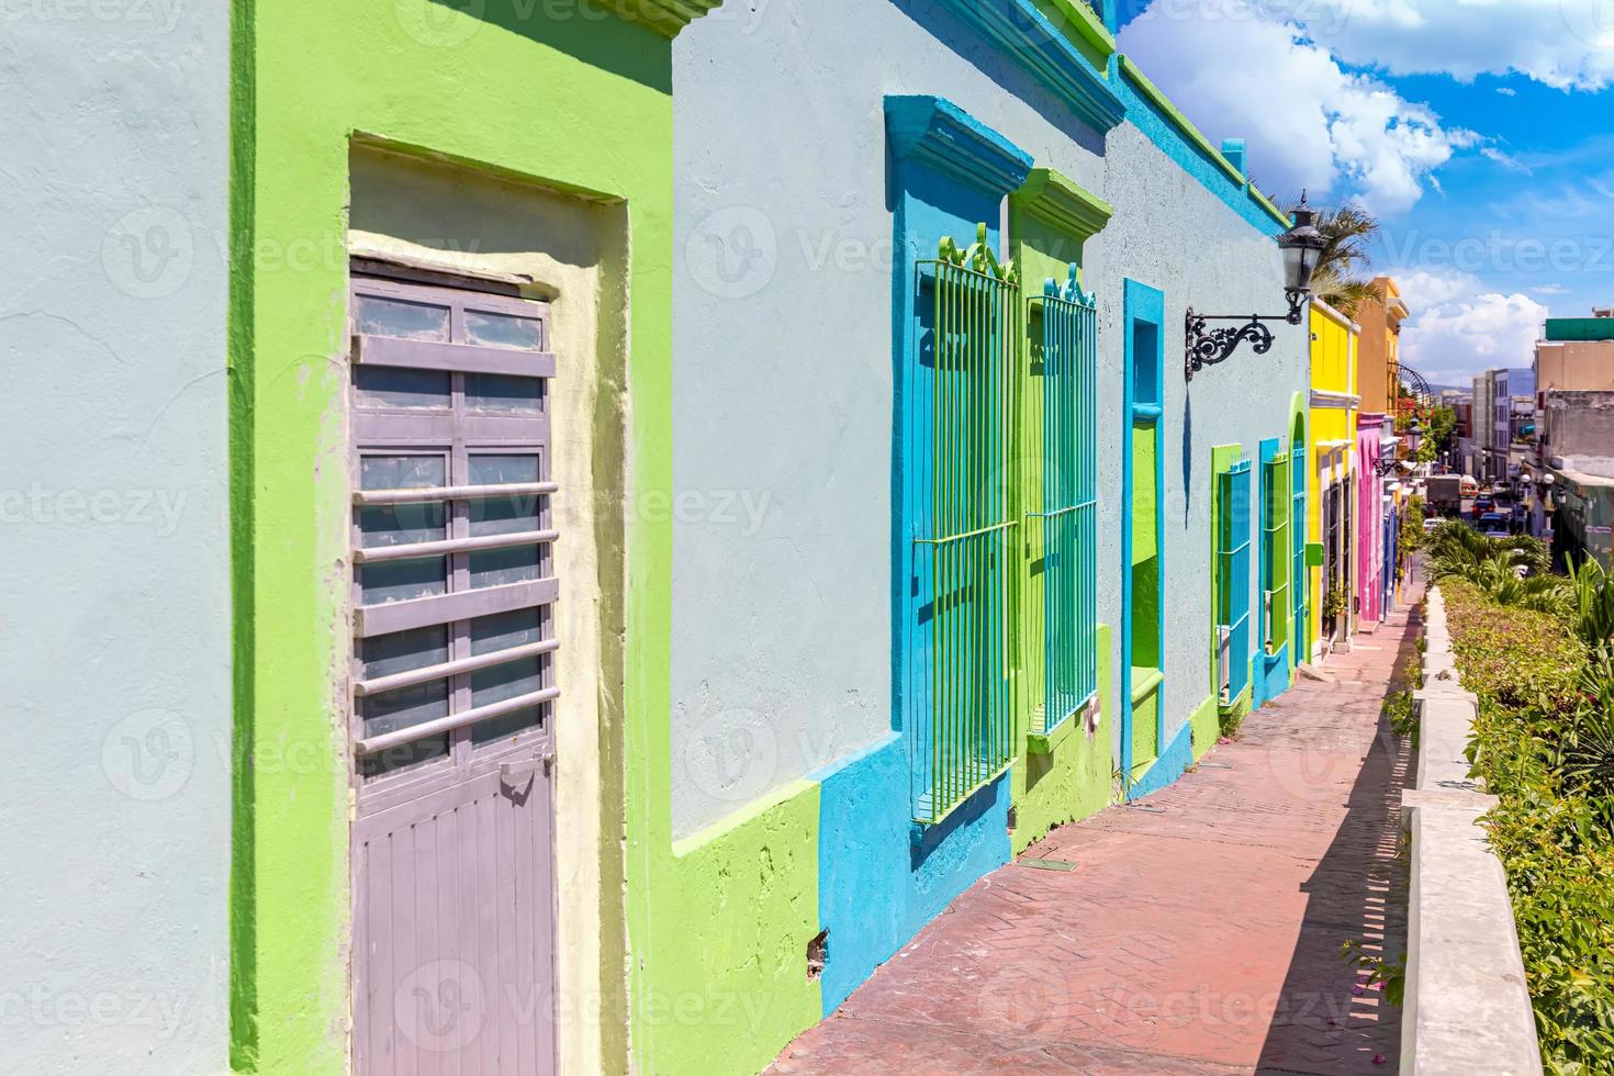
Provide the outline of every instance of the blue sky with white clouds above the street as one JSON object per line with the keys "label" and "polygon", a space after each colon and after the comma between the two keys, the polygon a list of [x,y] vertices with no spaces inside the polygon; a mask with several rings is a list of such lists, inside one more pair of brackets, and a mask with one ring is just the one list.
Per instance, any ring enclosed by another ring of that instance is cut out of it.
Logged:
{"label": "blue sky with white clouds above the street", "polygon": [[[1130,5],[1131,16],[1127,15]],[[1120,45],[1280,202],[1383,226],[1432,381],[1614,307],[1614,0],[1122,0]]]}

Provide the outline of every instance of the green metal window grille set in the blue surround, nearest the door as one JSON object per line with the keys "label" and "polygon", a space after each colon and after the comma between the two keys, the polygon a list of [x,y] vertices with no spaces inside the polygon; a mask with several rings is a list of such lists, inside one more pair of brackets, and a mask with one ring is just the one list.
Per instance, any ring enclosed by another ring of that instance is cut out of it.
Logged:
{"label": "green metal window grille set in the blue surround, nearest the door", "polygon": [[985,224],[967,252],[944,239],[938,260],[920,263],[917,286],[922,305],[926,289],[931,297],[930,347],[914,357],[920,394],[928,379],[918,450],[930,457],[930,487],[914,539],[928,618],[912,655],[910,750],[914,820],[935,823],[1014,758],[1009,445],[1022,321],[1018,276],[993,256]]}

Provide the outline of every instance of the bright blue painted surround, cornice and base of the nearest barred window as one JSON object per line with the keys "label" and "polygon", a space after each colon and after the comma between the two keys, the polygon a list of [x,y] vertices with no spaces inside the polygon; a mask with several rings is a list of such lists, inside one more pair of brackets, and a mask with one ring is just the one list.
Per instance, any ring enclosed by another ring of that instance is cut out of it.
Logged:
{"label": "bright blue painted surround, cornice and base of the nearest barred window", "polygon": [[960,247],[986,224],[997,252],[1001,205],[1025,181],[1028,153],[957,105],[935,97],[886,100],[891,144],[893,429],[891,457],[891,728],[894,736],[818,774],[818,910],[830,931],[825,1013],[981,874],[1009,861],[1009,781],[976,790],[935,826],[912,818],[912,737],[907,729],[928,668],[923,631],[931,597],[928,557],[914,539],[930,532],[930,392],[915,266],[936,258],[943,237]]}

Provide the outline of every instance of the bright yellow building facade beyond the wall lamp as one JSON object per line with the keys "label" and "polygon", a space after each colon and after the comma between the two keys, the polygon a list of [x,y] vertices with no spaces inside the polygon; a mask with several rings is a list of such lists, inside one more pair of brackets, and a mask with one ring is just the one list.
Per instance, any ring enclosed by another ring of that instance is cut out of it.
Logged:
{"label": "bright yellow building facade beyond the wall lamp", "polygon": [[[1322,300],[1311,303],[1311,465],[1306,489],[1307,631],[1296,655],[1322,661],[1349,640],[1356,566],[1356,416],[1362,329]],[[1330,594],[1340,597],[1330,602]]]}

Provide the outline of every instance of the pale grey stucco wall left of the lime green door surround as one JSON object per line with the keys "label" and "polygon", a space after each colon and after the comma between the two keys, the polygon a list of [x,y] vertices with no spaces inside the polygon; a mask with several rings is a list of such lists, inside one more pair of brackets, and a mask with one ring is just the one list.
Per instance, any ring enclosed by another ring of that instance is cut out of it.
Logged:
{"label": "pale grey stucco wall left of the lime green door surround", "polygon": [[0,11],[0,1068],[228,1070],[229,5]]}

